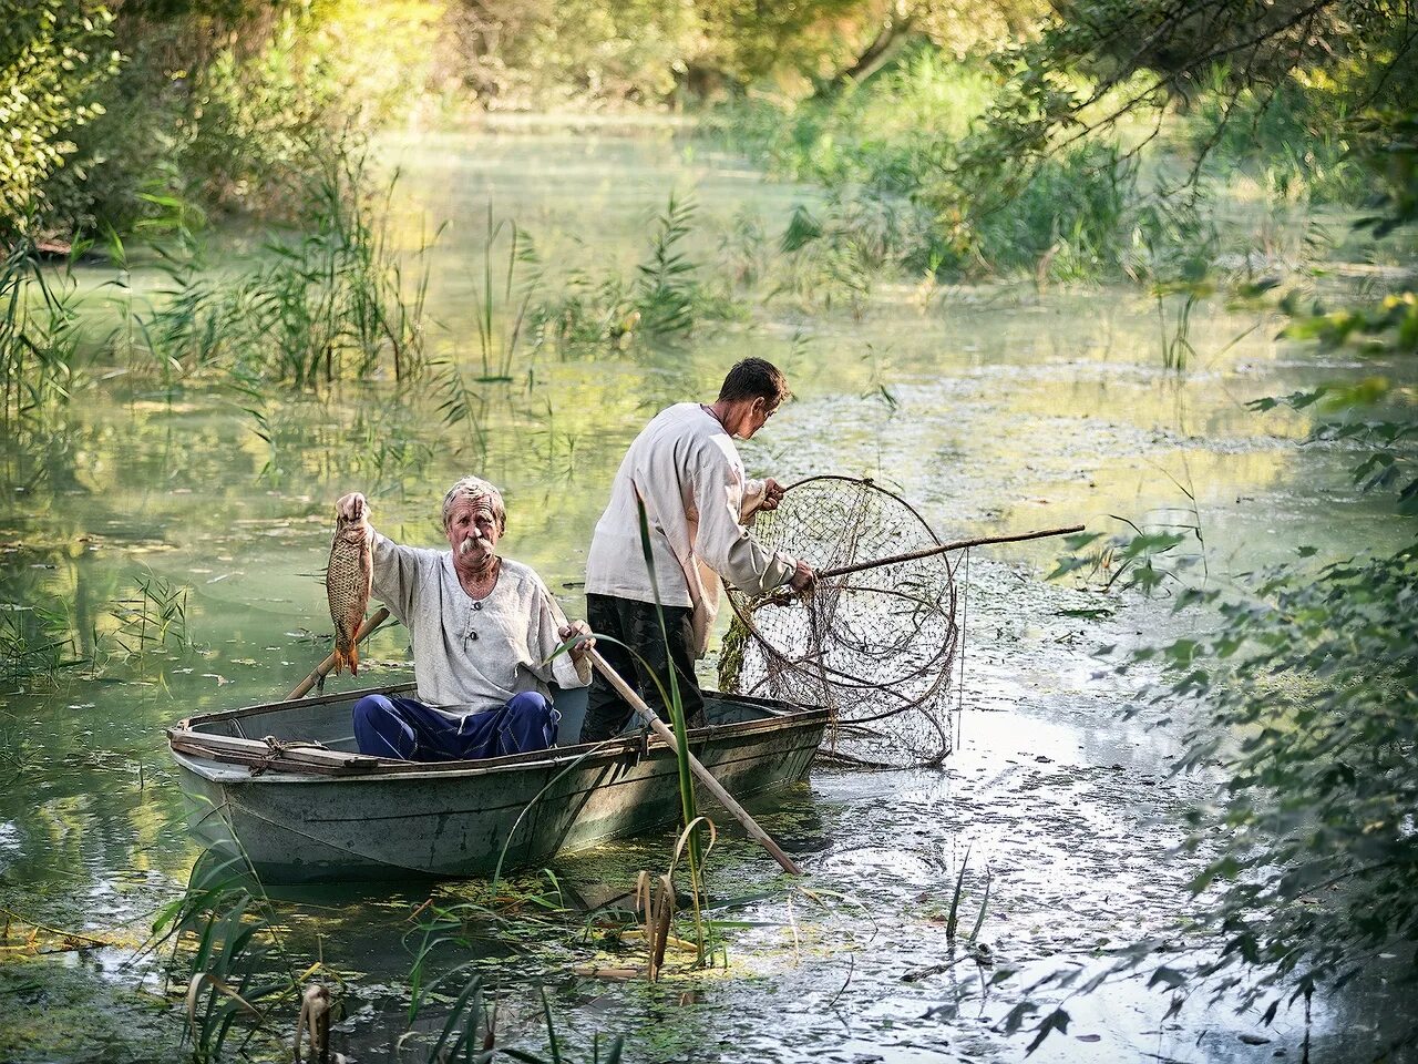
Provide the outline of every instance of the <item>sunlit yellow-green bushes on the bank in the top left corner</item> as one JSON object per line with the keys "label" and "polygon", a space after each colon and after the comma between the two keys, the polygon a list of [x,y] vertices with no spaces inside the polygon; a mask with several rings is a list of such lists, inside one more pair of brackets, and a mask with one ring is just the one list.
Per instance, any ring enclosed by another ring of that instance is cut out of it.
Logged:
{"label": "sunlit yellow-green bushes on the bank in the top left corner", "polygon": [[7,4],[0,240],[150,231],[173,204],[302,217],[303,174],[423,88],[438,10]]}

